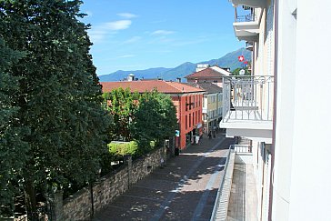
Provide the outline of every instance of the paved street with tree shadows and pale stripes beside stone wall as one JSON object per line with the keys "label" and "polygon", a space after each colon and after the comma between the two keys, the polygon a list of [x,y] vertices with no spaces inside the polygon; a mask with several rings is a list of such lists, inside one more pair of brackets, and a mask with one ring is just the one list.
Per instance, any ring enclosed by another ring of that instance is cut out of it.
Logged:
{"label": "paved street with tree shadows and pale stripes beside stone wall", "polygon": [[231,144],[221,134],[204,137],[117,197],[94,220],[209,220]]}

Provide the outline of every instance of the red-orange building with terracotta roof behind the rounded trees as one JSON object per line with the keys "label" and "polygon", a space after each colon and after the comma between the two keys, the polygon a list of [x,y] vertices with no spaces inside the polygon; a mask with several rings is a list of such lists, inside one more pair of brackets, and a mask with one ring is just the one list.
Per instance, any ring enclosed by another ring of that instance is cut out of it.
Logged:
{"label": "red-orange building with terracotta roof behind the rounded trees", "polygon": [[176,137],[176,147],[179,147],[179,149],[185,149],[187,145],[196,142],[196,136],[202,135],[204,90],[163,80],[101,82],[100,84],[103,86],[103,92],[110,92],[115,88],[122,87],[124,89],[130,88],[131,92],[145,93],[145,91],[152,91],[156,88],[158,92],[170,95],[176,106],[176,116],[179,124],[179,137]]}

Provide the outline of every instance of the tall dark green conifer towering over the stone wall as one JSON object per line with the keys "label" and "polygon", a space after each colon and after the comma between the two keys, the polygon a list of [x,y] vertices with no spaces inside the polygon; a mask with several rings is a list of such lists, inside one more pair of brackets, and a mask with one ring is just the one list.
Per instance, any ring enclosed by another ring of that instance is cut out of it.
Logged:
{"label": "tall dark green conifer towering over the stone wall", "polygon": [[[26,56],[12,66],[20,77],[21,126],[31,129],[24,140],[29,160],[24,170],[25,206],[34,220],[35,189],[90,181],[107,151],[109,117],[89,54],[88,25],[78,20],[82,1],[3,0],[0,36]],[[48,186],[48,187],[45,187]]]}

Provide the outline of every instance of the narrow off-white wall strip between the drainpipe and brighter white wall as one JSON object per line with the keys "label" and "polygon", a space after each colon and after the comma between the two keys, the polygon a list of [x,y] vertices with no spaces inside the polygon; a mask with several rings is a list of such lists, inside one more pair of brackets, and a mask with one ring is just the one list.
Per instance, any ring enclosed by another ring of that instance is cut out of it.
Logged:
{"label": "narrow off-white wall strip between the drainpipe and brighter white wall", "polygon": [[296,87],[296,0],[278,1],[273,220],[288,219]]}

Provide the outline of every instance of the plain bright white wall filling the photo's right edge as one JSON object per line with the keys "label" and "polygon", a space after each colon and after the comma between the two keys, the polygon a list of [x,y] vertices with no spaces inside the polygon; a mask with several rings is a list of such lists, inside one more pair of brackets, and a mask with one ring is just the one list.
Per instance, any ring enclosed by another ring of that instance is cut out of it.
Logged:
{"label": "plain bright white wall filling the photo's right edge", "polygon": [[331,219],[330,14],[329,0],[297,0],[289,220]]}

